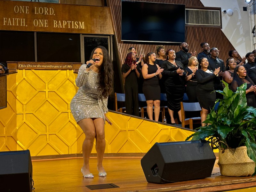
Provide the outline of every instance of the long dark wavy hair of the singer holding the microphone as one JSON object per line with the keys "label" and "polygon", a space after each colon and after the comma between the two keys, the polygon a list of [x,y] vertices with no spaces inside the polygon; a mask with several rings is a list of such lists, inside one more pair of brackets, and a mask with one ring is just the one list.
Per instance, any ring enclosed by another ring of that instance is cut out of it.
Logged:
{"label": "long dark wavy hair of the singer holding the microphone", "polygon": [[103,47],[103,46],[97,46],[93,49],[91,53],[90,59],[92,59],[94,51],[100,48],[103,53],[103,61],[101,64],[101,69],[98,75],[98,81],[99,81],[99,87],[98,90],[101,88],[103,89],[102,96],[107,98],[108,95],[113,91],[113,76],[114,76],[114,71],[113,71],[113,66],[112,62],[109,57],[108,50]]}

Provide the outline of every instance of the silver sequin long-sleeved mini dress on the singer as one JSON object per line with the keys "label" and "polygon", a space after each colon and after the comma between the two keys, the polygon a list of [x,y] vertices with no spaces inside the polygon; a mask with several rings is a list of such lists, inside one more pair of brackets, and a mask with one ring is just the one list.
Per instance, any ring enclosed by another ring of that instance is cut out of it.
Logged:
{"label": "silver sequin long-sleeved mini dress on the singer", "polygon": [[108,98],[102,96],[103,89],[98,89],[98,73],[92,69],[87,72],[86,64],[81,65],[76,77],[76,86],[79,87],[76,95],[70,102],[70,110],[76,122],[85,118],[103,118],[108,112]]}

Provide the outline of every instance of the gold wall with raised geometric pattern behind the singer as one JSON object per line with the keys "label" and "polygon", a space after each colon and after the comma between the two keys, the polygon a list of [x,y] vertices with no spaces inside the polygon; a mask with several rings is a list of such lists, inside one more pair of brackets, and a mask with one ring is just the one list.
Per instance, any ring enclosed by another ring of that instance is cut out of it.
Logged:
{"label": "gold wall with raised geometric pattern behind the singer", "polygon": [[[7,108],[0,110],[0,151],[82,153],[85,135],[69,106],[78,90],[76,76],[72,70],[18,70],[9,75]],[[106,153],[146,153],[155,142],[182,141],[193,133],[112,111],[107,116],[113,125],[105,125]]]}

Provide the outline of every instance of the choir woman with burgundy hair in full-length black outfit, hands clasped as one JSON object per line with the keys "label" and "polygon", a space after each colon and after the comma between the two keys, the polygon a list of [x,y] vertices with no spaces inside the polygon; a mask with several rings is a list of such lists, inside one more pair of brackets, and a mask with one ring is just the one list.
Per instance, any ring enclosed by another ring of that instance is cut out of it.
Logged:
{"label": "choir woman with burgundy hair in full-length black outfit, hands clasped", "polygon": [[122,74],[125,79],[126,113],[139,116],[138,79],[140,77],[140,66],[136,65],[136,55],[133,52],[127,54],[122,66]]}

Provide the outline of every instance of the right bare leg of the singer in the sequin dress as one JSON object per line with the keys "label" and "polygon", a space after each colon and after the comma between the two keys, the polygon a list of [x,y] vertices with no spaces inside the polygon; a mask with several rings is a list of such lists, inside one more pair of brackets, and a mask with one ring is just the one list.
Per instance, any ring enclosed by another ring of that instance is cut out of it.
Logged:
{"label": "right bare leg of the singer in the sequin dress", "polygon": [[106,147],[105,130],[104,130],[104,119],[95,118],[93,120],[96,130],[96,151],[97,151],[97,168],[99,172],[105,172],[102,161]]}

